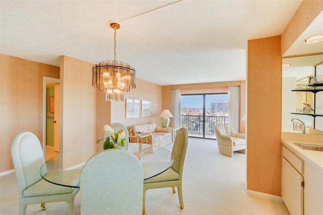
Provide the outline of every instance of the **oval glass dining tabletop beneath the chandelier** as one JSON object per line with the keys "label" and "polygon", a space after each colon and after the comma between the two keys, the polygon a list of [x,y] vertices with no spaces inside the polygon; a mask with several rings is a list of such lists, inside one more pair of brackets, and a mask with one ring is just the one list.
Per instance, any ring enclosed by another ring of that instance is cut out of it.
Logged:
{"label": "oval glass dining tabletop beneath the chandelier", "polygon": [[[52,184],[80,188],[79,177],[84,164],[102,150],[103,144],[96,144],[60,153],[41,166],[40,176]],[[174,163],[172,152],[163,147],[130,143],[129,151],[140,159],[144,180],[165,172]]]}

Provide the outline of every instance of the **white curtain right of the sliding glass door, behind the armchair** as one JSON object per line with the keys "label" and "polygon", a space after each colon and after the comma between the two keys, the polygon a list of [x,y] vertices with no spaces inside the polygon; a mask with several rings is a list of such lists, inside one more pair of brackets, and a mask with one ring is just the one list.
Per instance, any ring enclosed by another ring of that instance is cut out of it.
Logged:
{"label": "white curtain right of the sliding glass door, behind the armchair", "polygon": [[240,86],[229,86],[229,126],[239,132]]}

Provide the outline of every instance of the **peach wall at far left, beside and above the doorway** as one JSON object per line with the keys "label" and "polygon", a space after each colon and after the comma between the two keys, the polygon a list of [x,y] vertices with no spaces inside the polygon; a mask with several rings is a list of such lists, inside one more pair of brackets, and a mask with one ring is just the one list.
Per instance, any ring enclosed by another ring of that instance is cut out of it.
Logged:
{"label": "peach wall at far left, beside and above the doorway", "polygon": [[0,172],[14,169],[11,142],[22,131],[42,143],[43,77],[60,78],[60,68],[0,54]]}

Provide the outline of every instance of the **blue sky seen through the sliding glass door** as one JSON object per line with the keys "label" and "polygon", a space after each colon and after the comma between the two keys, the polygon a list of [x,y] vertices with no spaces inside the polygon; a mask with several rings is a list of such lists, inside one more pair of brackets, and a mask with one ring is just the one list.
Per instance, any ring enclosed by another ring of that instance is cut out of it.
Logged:
{"label": "blue sky seen through the sliding glass door", "polygon": [[[211,102],[228,102],[228,95],[205,95],[205,108],[209,109]],[[181,96],[181,108],[203,108],[203,95]]]}

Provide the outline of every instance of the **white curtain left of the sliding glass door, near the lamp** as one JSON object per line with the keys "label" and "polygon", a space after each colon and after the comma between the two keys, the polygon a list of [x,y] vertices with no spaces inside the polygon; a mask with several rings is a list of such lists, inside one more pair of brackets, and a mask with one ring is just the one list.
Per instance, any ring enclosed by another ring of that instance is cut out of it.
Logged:
{"label": "white curtain left of the sliding glass door, near the lamp", "polygon": [[181,89],[171,89],[171,126],[181,127]]}

